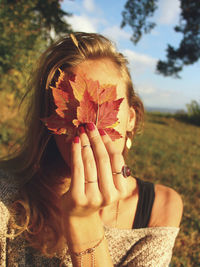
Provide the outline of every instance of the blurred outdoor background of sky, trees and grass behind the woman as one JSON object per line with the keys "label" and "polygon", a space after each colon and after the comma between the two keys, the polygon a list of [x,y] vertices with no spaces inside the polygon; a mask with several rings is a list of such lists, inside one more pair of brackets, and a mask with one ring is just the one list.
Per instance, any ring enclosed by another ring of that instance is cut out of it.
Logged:
{"label": "blurred outdoor background of sky, trees and grass behind the woman", "polygon": [[103,34],[127,57],[145,106],[128,164],[181,194],[172,266],[200,266],[200,1],[1,0],[0,157],[22,142],[18,106],[39,55],[73,31]]}

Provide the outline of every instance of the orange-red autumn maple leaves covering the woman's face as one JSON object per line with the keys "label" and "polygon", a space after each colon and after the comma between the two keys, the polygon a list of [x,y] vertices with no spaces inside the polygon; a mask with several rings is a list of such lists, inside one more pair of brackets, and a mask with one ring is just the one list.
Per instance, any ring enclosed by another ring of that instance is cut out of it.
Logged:
{"label": "orange-red autumn maple leaves covering the woman's face", "polygon": [[112,140],[121,138],[114,129],[119,123],[117,114],[124,98],[116,99],[116,85],[100,85],[87,79],[86,74],[67,74],[59,69],[55,87],[50,87],[56,109],[41,119],[54,134],[75,135],[77,127],[93,122],[103,129]]}

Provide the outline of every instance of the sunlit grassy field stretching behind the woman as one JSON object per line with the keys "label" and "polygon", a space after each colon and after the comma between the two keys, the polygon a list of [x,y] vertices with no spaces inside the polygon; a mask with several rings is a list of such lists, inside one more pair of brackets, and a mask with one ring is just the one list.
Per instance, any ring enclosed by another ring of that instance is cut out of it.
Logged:
{"label": "sunlit grassy field stretching behind the woman", "polygon": [[[0,156],[20,134],[17,125],[12,112],[1,122]],[[184,214],[171,265],[200,266],[200,127],[172,116],[147,113],[143,134],[135,138],[128,164],[136,176],[181,194]]]}

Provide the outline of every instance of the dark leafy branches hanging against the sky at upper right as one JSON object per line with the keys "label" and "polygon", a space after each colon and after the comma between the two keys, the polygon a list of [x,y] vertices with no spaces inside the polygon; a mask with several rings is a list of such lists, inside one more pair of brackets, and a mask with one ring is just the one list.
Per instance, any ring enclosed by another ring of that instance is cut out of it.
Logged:
{"label": "dark leafy branches hanging against the sky at upper right", "polygon": [[[149,33],[155,23],[148,19],[153,16],[158,7],[158,0],[128,0],[122,12],[122,24],[133,29],[131,40],[134,44],[140,40],[143,33]],[[168,44],[167,60],[159,61],[157,72],[164,76],[180,78],[179,73],[186,65],[197,62],[200,58],[200,1],[180,0],[180,22],[174,28],[183,37],[178,48]]]}

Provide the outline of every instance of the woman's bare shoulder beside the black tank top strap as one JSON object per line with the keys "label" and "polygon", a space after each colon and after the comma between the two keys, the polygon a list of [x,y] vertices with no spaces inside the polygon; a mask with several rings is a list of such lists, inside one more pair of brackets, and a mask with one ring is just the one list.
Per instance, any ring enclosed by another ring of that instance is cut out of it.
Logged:
{"label": "woman's bare shoulder beside the black tank top strap", "polygon": [[183,213],[181,196],[172,188],[156,184],[149,227],[179,227]]}

